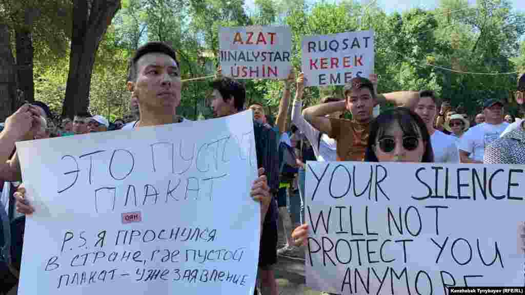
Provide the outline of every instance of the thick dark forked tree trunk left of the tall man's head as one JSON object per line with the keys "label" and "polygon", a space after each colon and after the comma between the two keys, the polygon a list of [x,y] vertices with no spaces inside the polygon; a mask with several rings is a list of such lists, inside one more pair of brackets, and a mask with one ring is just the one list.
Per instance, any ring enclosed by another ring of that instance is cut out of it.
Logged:
{"label": "thick dark forked tree trunk left of the tall man's head", "polygon": [[87,111],[91,72],[100,40],[120,9],[120,0],[74,0],[71,53],[62,117]]}

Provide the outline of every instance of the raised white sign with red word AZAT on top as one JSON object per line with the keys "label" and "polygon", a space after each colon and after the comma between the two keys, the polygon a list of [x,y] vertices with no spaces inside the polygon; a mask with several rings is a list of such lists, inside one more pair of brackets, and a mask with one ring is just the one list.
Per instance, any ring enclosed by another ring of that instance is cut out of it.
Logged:
{"label": "raised white sign with red word AZAT on top", "polygon": [[284,79],[291,70],[289,27],[220,27],[222,74],[235,79]]}

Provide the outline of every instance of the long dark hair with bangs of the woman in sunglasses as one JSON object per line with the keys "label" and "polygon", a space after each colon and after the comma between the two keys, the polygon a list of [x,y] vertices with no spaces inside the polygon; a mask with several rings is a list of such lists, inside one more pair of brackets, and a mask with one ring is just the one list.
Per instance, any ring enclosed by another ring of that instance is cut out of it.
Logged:
{"label": "long dark hair with bangs of the woman in sunglasses", "polygon": [[[370,135],[368,137],[368,143],[366,144],[364,161],[379,162],[374,151],[375,140],[381,138],[385,131],[390,128],[394,122],[397,122],[400,125],[401,130],[403,130],[403,133],[406,136],[416,136],[417,138],[421,136],[425,144],[425,153],[423,154],[421,162],[433,163],[434,151],[432,150],[432,144],[430,144],[430,134],[428,134],[425,122],[423,122],[418,114],[407,108],[395,108],[385,111],[371,122]],[[416,130],[415,127],[417,127],[419,131]]]}

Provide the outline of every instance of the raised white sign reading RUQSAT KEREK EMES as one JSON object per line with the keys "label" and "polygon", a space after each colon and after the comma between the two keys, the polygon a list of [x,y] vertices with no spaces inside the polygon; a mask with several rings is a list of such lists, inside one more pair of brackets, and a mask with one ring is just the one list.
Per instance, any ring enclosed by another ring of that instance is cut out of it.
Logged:
{"label": "raised white sign reading RUQSAT KEREK EMES", "polygon": [[304,36],[301,69],[306,86],[344,85],[374,73],[374,31]]}

